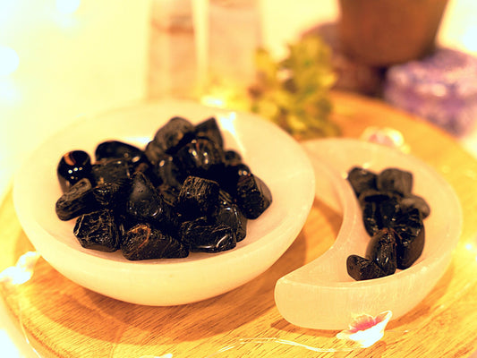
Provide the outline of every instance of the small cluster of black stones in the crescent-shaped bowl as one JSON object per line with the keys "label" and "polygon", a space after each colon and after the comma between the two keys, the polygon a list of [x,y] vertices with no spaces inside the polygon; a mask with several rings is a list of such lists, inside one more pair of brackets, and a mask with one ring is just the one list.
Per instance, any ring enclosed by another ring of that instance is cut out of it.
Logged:
{"label": "small cluster of black stones in the crescent-shaped bowl", "polygon": [[371,236],[366,259],[355,255],[348,258],[349,275],[354,279],[373,278],[371,272],[375,272],[376,277],[381,277],[367,260],[384,275],[411,267],[422,255],[425,243],[422,220],[430,215],[427,201],[412,192],[412,173],[392,167],[374,174],[353,167],[347,179],[359,199],[362,221]]}

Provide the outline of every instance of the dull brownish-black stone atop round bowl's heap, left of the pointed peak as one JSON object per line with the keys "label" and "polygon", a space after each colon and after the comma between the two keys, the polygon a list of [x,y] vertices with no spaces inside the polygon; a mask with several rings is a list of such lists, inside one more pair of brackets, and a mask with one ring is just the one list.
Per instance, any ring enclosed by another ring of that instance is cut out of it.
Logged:
{"label": "dull brownish-black stone atop round bowl's heap, left of the pointed peak", "polygon": [[175,116],[158,129],[154,135],[154,143],[163,153],[174,154],[194,136],[195,126],[187,119]]}

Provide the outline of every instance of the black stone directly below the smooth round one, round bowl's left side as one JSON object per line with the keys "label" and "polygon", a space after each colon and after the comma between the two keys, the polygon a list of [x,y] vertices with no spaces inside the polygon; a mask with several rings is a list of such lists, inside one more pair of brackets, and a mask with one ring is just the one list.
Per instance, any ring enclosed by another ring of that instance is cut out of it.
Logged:
{"label": "black stone directly below the smooth round one, round bowl's left side", "polygon": [[55,212],[60,220],[71,220],[98,209],[98,202],[93,195],[93,188],[88,179],[81,179],[72,185],[68,192],[56,200]]}

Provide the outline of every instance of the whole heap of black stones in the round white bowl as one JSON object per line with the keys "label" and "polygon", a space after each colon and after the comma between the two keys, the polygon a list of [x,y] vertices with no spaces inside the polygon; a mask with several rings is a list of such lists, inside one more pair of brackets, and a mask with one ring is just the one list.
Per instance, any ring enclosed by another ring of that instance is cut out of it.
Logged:
{"label": "whole heap of black stones in the round white bowl", "polygon": [[[120,247],[128,260],[233,249],[245,238],[248,219],[272,201],[268,186],[241,155],[224,148],[214,117],[197,125],[173,117],[144,149],[103,141],[95,159],[77,178],[58,172],[67,190],[56,214],[62,220],[77,217],[74,234],[83,247]],[[86,152],[73,151],[58,170],[89,160]]]}

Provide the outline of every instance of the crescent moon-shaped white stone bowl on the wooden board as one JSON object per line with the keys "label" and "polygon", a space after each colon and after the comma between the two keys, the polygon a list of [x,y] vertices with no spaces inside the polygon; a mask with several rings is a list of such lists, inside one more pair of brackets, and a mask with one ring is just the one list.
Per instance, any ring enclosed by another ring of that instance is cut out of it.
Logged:
{"label": "crescent moon-shaped white stone bowl on the wooden board", "polygon": [[[315,168],[317,198],[343,213],[343,221],[328,251],[277,281],[278,311],[297,326],[319,329],[347,328],[360,314],[392,311],[393,319],[403,316],[429,294],[447,269],[462,228],[456,193],[430,166],[396,149],[351,139],[308,141],[303,147]],[[346,258],[364,256],[370,241],[345,180],[353,166],[376,172],[394,166],[413,173],[413,193],[428,201],[431,213],[424,220],[422,256],[411,268],[365,281],[354,281],[347,274]]]}

